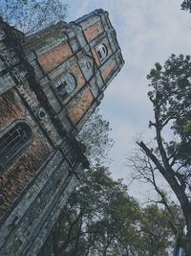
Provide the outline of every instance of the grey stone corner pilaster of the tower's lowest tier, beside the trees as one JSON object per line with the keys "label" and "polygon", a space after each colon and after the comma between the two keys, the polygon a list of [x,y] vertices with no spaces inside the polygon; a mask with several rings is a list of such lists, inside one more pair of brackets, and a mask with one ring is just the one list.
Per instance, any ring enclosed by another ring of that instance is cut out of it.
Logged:
{"label": "grey stone corner pilaster of the tower's lowest tier, beside the trees", "polygon": [[62,147],[69,150],[64,159],[54,151],[2,223],[0,255],[36,255],[45,242],[77,182],[73,173],[83,171],[67,141]]}

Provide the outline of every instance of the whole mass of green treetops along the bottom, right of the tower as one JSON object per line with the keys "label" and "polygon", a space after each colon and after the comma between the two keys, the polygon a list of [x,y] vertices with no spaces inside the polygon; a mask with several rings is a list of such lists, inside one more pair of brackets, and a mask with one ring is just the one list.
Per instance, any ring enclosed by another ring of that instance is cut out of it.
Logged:
{"label": "whole mass of green treetops along the bottom, right of the tower", "polygon": [[173,237],[166,211],[156,205],[141,209],[102,166],[83,176],[59,228],[56,252],[63,256],[168,255]]}

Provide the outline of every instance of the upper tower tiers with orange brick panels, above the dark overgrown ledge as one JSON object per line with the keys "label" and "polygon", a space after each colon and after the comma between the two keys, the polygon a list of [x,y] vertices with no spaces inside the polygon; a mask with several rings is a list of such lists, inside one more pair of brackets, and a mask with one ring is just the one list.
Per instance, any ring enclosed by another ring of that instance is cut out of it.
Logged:
{"label": "upper tower tiers with orange brick panels, above the dark overgrown ledge", "polygon": [[30,35],[23,46],[47,103],[73,134],[99,105],[124,64],[117,33],[108,12],[101,9]]}

